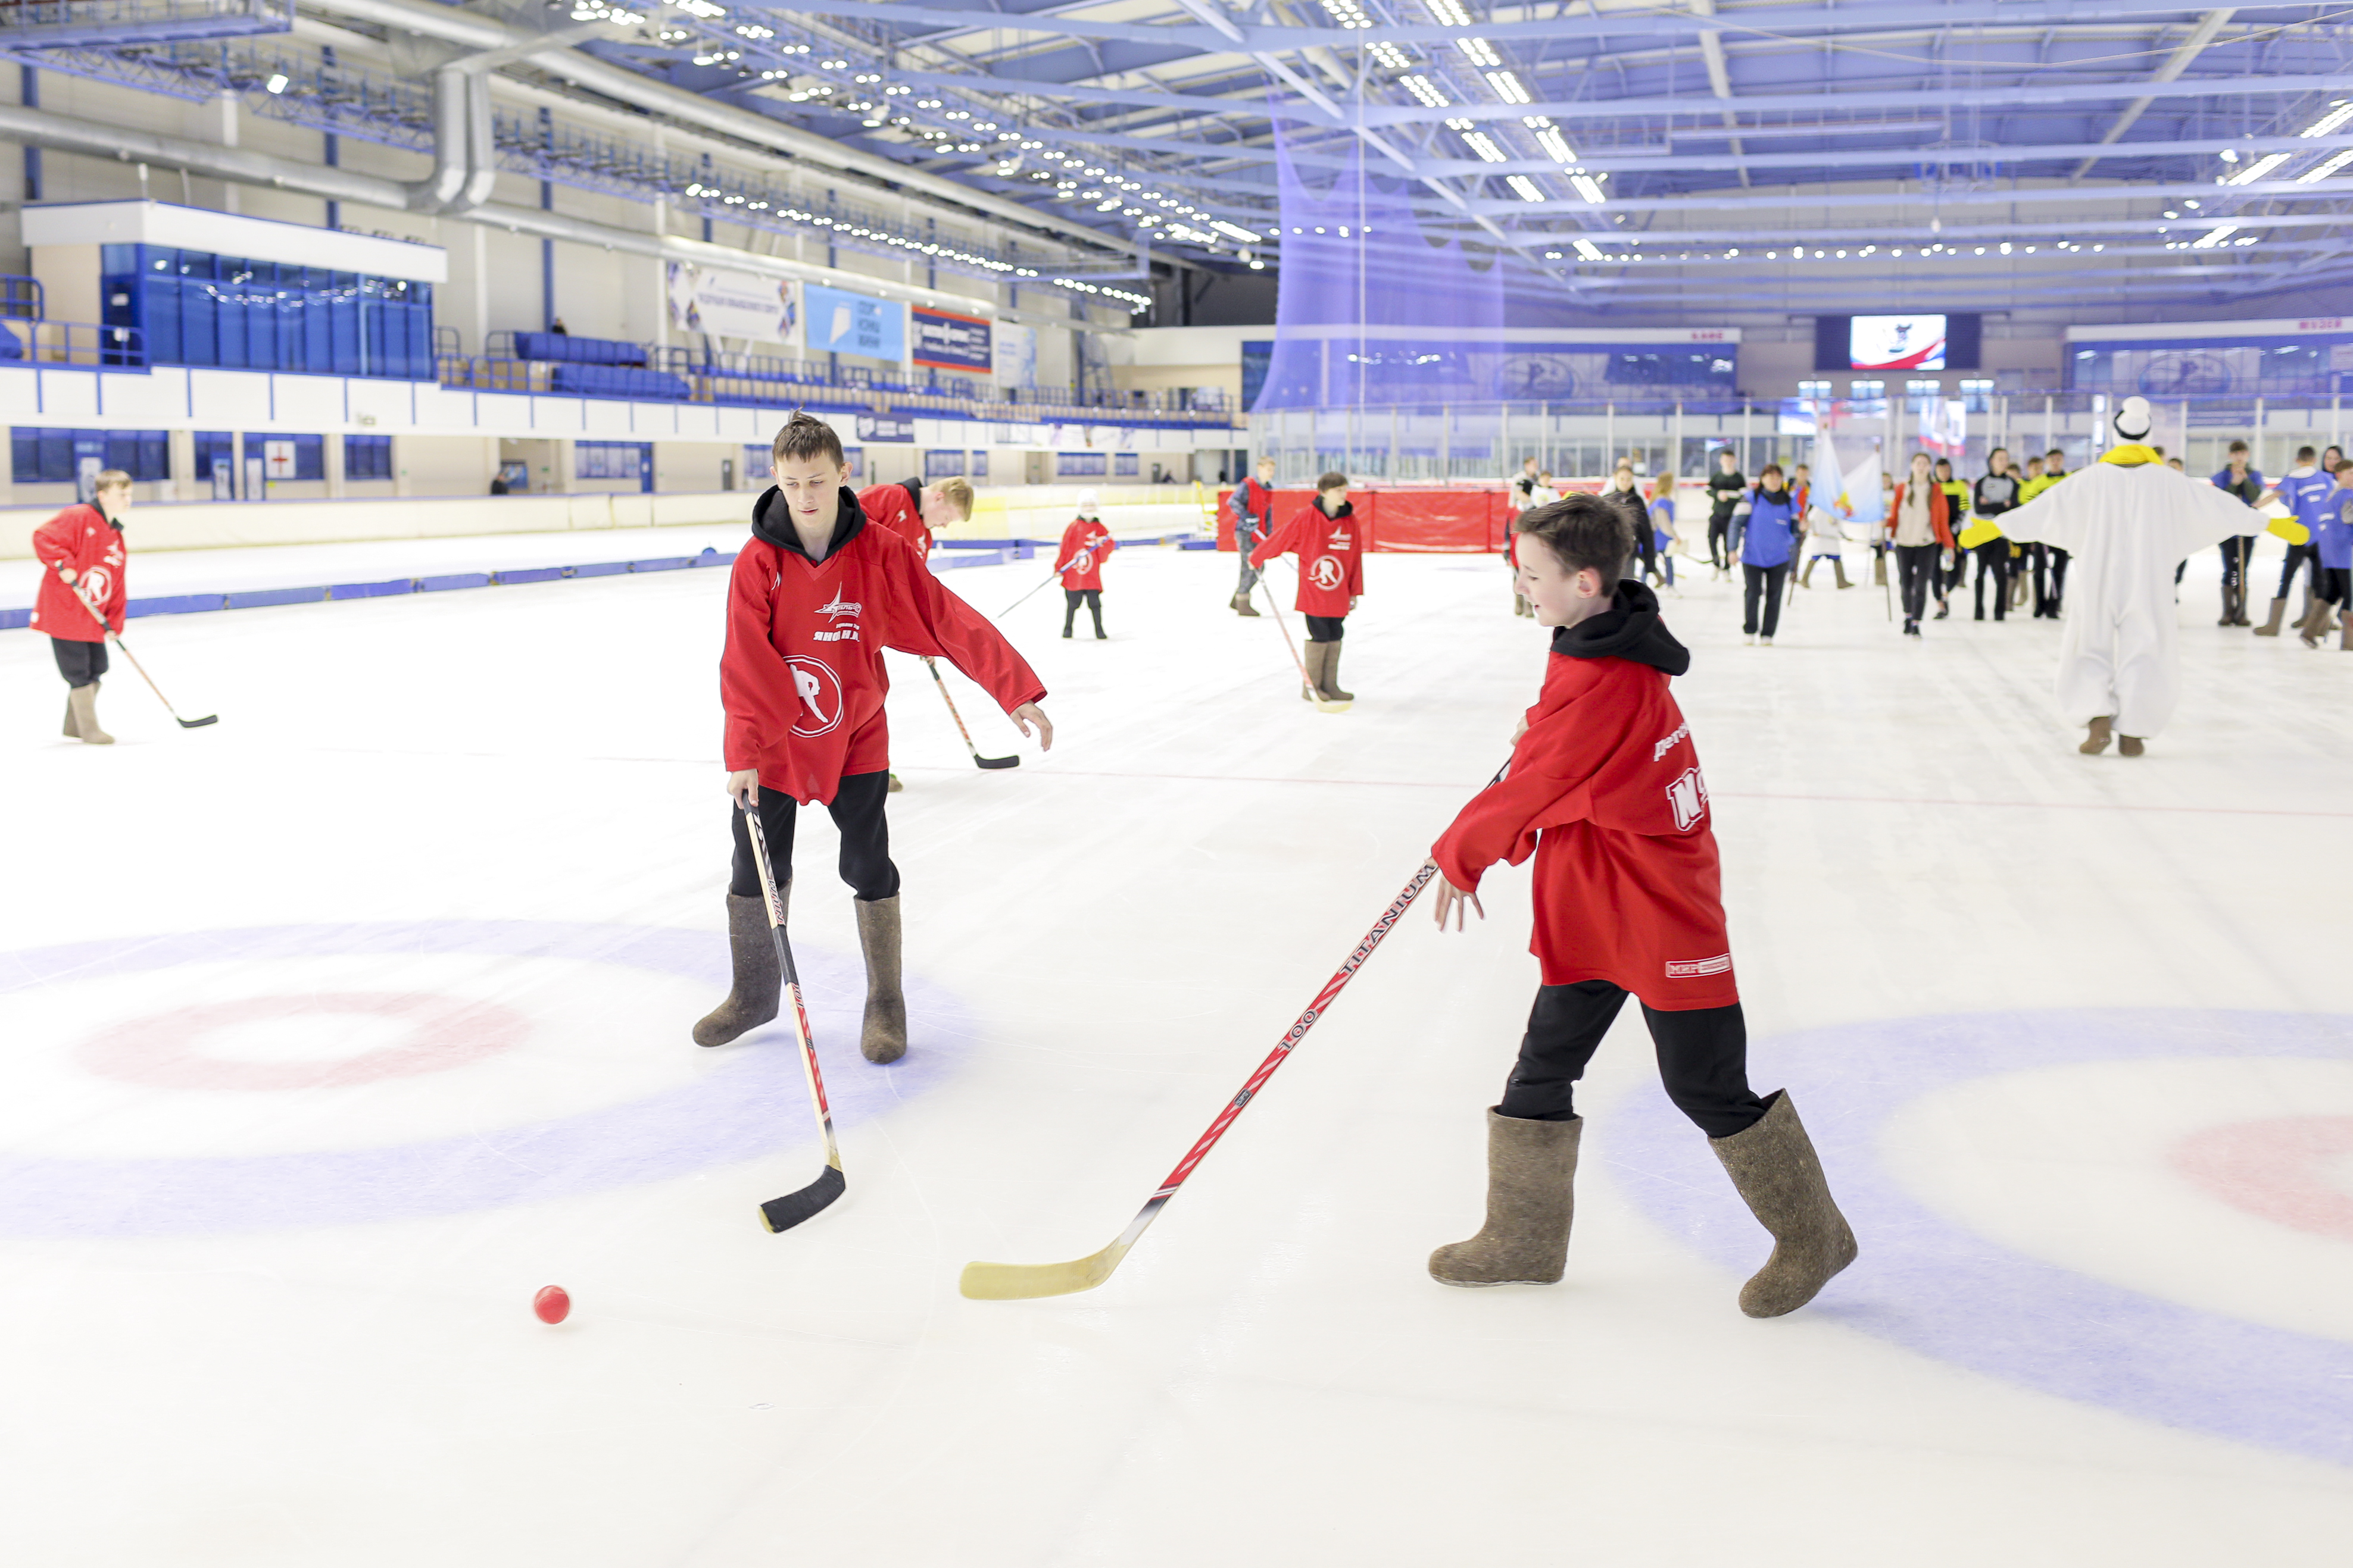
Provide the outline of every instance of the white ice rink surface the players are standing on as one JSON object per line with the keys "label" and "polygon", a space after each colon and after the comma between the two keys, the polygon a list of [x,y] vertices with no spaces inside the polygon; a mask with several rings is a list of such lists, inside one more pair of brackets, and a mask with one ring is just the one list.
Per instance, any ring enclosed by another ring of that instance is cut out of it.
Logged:
{"label": "white ice rink surface the players are standing on", "polygon": [[[2353,656],[2214,628],[2195,559],[2174,726],[2080,757],[2059,625],[1962,595],[1906,644],[1861,571],[1772,649],[1689,562],[1666,604],[1753,1081],[1861,1239],[1777,1321],[1635,1009],[1569,1279],[1424,1274],[1478,1227],[1525,867],[1468,936],[1417,912],[1104,1288],[955,1293],[1111,1241],[1504,759],[1546,654],[1494,562],[1372,557],[1318,715],[1231,555],[1125,550],[1111,642],[1054,590],[1007,621],[1052,755],[951,677],[1002,773],[892,656],[913,1048],[856,1056],[805,813],[849,1192],[786,1237],[791,1032],[687,1039],[722,571],[134,621],[221,724],[118,661],[108,750],[0,635],[0,1556],[2344,1563]],[[995,614],[1040,574],[946,581]]]}

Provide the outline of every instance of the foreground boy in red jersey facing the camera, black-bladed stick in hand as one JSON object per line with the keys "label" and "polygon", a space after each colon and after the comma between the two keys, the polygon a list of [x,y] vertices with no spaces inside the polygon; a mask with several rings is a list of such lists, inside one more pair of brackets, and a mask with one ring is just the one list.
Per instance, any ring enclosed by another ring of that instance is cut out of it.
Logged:
{"label": "foreground boy in red jersey facing the camera, black-bladed stick in hand", "polygon": [[[866,952],[871,1063],[906,1053],[906,999],[899,990],[899,867],[889,858],[882,799],[889,729],[882,649],[944,656],[1012,715],[1021,733],[1054,745],[1038,710],[1045,686],[1012,644],[969,604],[939,585],[899,534],[873,527],[847,487],[842,440],[819,418],[795,414],[776,433],[774,484],[751,515],[751,541],[727,583],[727,651],[720,705],[727,710],[727,795],[760,811],[791,900],[793,818],[824,804],[842,832],[842,882],[856,896]],[[781,973],[760,907],[760,872],[744,811],[734,818],[734,877],[727,886],[727,943],[734,987],[694,1025],[694,1044],[725,1046],[776,1016]]]}

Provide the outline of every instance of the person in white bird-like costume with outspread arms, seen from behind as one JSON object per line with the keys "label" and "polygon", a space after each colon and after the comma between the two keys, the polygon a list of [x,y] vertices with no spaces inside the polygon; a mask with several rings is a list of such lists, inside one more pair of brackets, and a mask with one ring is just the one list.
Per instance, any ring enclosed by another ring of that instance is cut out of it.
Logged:
{"label": "person in white bird-like costume with outspread arms, seen from behind", "polygon": [[2181,698],[2174,646],[2174,567],[2224,538],[2259,534],[2264,522],[2233,494],[2174,473],[2148,435],[2148,400],[2115,409],[2101,461],[2054,484],[2000,520],[2017,543],[2057,545],[2075,557],[2059,642],[2059,712],[2082,724],[2085,755],[2139,757]]}

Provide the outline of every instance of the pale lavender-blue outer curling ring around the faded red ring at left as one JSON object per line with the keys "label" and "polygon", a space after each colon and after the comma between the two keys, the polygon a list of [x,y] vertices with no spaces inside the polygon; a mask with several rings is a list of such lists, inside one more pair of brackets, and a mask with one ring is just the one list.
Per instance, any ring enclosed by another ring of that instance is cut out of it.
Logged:
{"label": "pale lavender-blue outer curling ring around the faded red ring at left", "polygon": [[[179,964],[346,954],[586,959],[701,980],[713,987],[713,997],[727,987],[727,943],[720,933],[569,922],[367,922],[191,931],[5,952],[0,994],[54,983],[87,985]],[[812,1009],[819,1051],[828,1058],[826,1091],[835,1124],[885,1114],[953,1070],[955,1046],[969,1039],[962,1006],[953,994],[908,973],[908,1018],[915,1025],[911,1051],[889,1067],[875,1067],[856,1051],[845,1053],[847,1041],[856,1037],[859,1004],[866,994],[861,959],[802,945],[795,945],[793,957],[805,992],[845,997],[838,1009]],[[200,1030],[207,1013],[214,1009],[191,1009],[188,1034]],[[699,1058],[696,1065],[704,1070],[692,1084],[572,1117],[485,1128],[461,1138],[374,1150],[198,1159],[0,1154],[0,1234],[214,1234],[414,1220],[656,1182],[802,1143],[814,1147],[816,1128],[788,1023],[765,1025],[725,1053],[699,1051],[687,1039],[689,1025],[692,1018],[680,1018],[673,1037],[647,1039],[645,1048]],[[351,1058],[344,1067],[379,1056],[395,1058],[376,1063],[372,1072],[391,1077],[407,1070],[400,1058],[416,1048],[412,1041],[386,1053]],[[101,1048],[101,1060],[167,1077],[176,1070],[212,1074],[249,1065],[174,1056],[169,1041],[162,1048],[111,1044]],[[332,1067],[301,1065],[304,1072]],[[431,1067],[416,1063],[414,1070]]]}

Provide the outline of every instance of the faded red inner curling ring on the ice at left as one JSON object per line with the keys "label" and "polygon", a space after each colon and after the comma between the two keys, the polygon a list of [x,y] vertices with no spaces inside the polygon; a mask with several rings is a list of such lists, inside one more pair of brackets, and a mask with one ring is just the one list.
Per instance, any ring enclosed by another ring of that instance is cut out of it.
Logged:
{"label": "faded red inner curling ring on the ice at left", "polygon": [[[311,1063],[238,1060],[205,1051],[207,1034],[240,1023],[348,1013],[407,1020],[414,1025],[414,1034],[402,1046]],[[271,1093],[447,1072],[522,1044],[529,1030],[522,1013],[494,1001],[419,997],[414,992],[318,992],[308,997],[245,997],[134,1018],[82,1041],[75,1056],[85,1070],[125,1084]]]}

